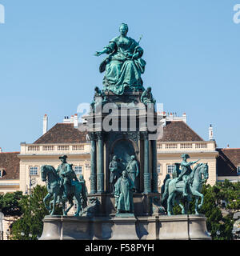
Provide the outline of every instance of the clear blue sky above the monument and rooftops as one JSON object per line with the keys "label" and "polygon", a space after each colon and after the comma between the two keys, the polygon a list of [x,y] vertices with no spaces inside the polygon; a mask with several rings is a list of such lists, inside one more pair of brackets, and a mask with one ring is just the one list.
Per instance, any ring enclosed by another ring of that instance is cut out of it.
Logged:
{"label": "clear blue sky above the monument and rooftops", "polygon": [[144,86],[166,112],[186,112],[188,124],[219,147],[240,147],[240,0],[0,0],[0,146],[20,149],[49,126],[90,102],[102,88],[96,50],[118,35],[143,34]]}

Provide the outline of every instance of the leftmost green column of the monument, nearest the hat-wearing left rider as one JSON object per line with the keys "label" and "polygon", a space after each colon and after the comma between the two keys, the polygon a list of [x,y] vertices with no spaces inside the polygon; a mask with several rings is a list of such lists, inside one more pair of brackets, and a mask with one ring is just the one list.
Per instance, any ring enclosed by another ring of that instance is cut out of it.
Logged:
{"label": "leftmost green column of the monument, nearest the hat-wearing left rider", "polygon": [[90,194],[97,193],[97,158],[96,158],[96,137],[94,133],[89,134],[90,142],[91,142],[91,174],[90,174]]}

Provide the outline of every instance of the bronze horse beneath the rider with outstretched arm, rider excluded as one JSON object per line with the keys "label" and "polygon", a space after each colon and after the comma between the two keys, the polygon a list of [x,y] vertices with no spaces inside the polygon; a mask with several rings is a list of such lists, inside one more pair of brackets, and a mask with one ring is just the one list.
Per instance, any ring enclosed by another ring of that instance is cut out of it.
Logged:
{"label": "bronze horse beneath the rider with outstretched arm, rider excluded", "polygon": [[[176,175],[176,174],[175,174]],[[177,174],[178,175],[178,174]],[[176,177],[176,176],[175,176]],[[182,198],[184,182],[178,181],[178,177],[176,178],[168,178],[165,183],[165,190],[162,195],[162,205],[166,202],[167,206],[167,214],[173,214],[173,206],[176,202],[182,209],[182,214],[187,214],[189,210],[189,205],[193,197],[196,198],[195,202],[195,214],[198,214],[198,209],[202,207],[203,204],[203,194],[202,192],[202,183],[208,179],[208,165],[207,163],[198,163],[194,170],[190,173],[188,177],[188,195],[185,200],[184,206],[180,203],[180,199]],[[201,198],[201,202],[198,205],[199,198]],[[167,201],[166,201],[167,200]]]}

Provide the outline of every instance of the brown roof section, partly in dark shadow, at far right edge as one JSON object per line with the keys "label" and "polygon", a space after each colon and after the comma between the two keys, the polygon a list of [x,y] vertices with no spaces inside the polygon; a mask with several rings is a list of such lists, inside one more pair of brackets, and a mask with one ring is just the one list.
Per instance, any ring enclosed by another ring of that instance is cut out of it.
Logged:
{"label": "brown roof section, partly in dark shadow, at far right edge", "polygon": [[236,176],[237,167],[240,166],[240,149],[217,149],[218,176]]}

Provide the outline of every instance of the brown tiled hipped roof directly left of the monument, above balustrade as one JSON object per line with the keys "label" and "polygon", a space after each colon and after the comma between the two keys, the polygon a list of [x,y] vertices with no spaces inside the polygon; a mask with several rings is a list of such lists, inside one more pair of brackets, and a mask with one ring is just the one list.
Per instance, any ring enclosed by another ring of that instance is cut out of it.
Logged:
{"label": "brown tiled hipped roof directly left of the monument, above balustrade", "polygon": [[38,138],[34,144],[48,143],[82,143],[86,142],[86,131],[74,128],[73,123],[57,123]]}

